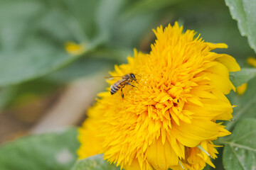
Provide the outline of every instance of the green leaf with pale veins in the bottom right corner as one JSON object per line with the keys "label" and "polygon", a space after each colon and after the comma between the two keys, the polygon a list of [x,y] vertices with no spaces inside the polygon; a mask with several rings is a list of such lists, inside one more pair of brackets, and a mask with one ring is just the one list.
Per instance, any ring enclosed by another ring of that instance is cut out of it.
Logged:
{"label": "green leaf with pale veins in the bottom right corner", "polygon": [[226,170],[255,169],[256,119],[241,120],[224,143],[223,164]]}

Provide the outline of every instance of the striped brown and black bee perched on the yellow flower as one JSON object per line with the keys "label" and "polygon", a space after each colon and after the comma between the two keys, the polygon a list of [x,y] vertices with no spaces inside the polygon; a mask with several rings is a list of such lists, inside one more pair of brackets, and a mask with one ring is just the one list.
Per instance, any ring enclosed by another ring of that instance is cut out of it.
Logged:
{"label": "striped brown and black bee perched on the yellow flower", "polygon": [[[110,77],[110,78],[112,78],[112,77]],[[125,74],[124,76],[122,76],[122,79],[118,80],[117,82],[112,84],[112,86],[110,86],[110,93],[113,95],[113,94],[117,93],[117,91],[119,89],[121,89],[121,96],[122,96],[122,98],[124,98],[124,93],[122,91],[124,86],[126,86],[128,84],[130,86],[136,87],[136,86],[130,84],[132,81],[137,82],[135,74],[133,74],[133,73]]]}

